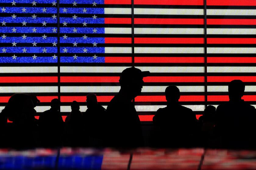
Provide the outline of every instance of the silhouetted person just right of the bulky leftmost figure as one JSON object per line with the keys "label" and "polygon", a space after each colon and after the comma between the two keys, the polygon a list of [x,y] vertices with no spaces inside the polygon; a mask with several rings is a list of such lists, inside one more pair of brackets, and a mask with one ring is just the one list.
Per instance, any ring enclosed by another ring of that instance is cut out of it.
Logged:
{"label": "silhouetted person just right of the bulky leftmost figure", "polygon": [[62,145],[64,122],[59,113],[59,99],[52,99],[50,110],[39,116],[41,144],[44,147],[58,147]]}

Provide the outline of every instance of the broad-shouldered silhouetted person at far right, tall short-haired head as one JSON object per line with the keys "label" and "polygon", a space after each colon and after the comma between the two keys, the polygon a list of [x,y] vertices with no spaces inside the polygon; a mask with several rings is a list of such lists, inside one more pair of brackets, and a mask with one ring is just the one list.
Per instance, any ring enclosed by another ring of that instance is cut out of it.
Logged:
{"label": "broad-shouldered silhouetted person at far right, tall short-haired head", "polygon": [[255,147],[255,108],[241,98],[245,85],[241,80],[229,83],[229,101],[216,110],[215,132],[225,148]]}

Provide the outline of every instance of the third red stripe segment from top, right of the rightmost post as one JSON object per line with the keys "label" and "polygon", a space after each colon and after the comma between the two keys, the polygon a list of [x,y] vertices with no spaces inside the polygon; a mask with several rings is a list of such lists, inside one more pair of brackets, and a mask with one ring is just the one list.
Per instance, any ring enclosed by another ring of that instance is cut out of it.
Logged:
{"label": "third red stripe segment from top, right of the rightmost post", "polygon": [[207,44],[256,44],[256,38],[207,38]]}

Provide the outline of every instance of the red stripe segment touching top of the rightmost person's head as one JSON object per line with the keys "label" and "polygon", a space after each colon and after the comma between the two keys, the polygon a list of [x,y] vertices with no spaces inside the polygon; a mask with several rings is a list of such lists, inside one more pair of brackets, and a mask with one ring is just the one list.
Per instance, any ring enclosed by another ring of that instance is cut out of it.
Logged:
{"label": "red stripe segment touching top of the rightmost person's head", "polygon": [[232,80],[242,80],[243,82],[256,82],[256,76],[208,76],[208,82],[230,82]]}

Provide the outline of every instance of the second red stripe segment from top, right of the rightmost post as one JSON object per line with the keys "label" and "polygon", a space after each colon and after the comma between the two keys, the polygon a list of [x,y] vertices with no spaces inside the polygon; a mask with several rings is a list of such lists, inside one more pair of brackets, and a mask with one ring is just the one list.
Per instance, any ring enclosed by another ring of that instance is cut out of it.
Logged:
{"label": "second red stripe segment from top, right of the rightmost post", "polygon": [[207,25],[256,25],[256,19],[207,19]]}

